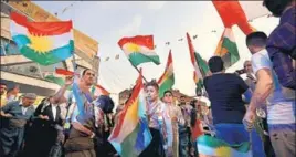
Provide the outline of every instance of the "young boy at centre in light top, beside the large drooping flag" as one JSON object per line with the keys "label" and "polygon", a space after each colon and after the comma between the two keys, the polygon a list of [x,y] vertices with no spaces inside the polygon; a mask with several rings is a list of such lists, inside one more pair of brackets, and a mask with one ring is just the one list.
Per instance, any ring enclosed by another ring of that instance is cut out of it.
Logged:
{"label": "young boy at centre in light top, beside the large drooping flag", "polygon": [[165,157],[172,154],[172,132],[169,128],[171,122],[166,104],[158,97],[158,90],[156,81],[146,84],[147,116],[152,140],[140,157]]}

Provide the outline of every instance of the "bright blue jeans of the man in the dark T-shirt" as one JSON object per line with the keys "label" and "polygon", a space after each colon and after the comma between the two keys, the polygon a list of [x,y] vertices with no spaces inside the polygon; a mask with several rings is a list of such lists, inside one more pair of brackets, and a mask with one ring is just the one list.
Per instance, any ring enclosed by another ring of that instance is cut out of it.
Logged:
{"label": "bright blue jeans of the man in the dark T-shirt", "polygon": [[[230,145],[237,145],[250,142],[249,133],[243,124],[215,124],[215,136]],[[252,151],[253,157],[265,157],[263,142],[255,129],[252,130]]]}

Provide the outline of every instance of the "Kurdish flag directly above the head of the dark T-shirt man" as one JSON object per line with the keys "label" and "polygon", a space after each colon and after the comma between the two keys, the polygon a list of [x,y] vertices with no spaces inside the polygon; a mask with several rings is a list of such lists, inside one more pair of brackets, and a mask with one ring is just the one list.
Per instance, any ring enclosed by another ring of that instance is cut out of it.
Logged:
{"label": "Kurdish flag directly above the head of the dark T-shirt man", "polygon": [[239,49],[234,40],[231,28],[225,28],[214,53],[224,61],[224,67],[228,69],[240,60]]}

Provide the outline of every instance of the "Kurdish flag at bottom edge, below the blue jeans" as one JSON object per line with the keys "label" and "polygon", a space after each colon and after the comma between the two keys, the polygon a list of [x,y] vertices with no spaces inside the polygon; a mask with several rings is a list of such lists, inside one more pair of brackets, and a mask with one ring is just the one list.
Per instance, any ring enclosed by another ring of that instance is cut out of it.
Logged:
{"label": "Kurdish flag at bottom edge, below the blue jeans", "polygon": [[249,142],[241,145],[229,145],[228,143],[211,136],[199,136],[197,147],[200,156],[214,157],[252,157]]}

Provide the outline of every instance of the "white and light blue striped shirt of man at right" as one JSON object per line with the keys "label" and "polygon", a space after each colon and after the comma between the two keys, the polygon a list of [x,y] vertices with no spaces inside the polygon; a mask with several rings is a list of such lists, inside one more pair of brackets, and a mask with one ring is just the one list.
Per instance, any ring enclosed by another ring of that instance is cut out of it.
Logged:
{"label": "white and light blue striped shirt of man at right", "polygon": [[252,56],[252,66],[255,74],[262,69],[268,69],[273,74],[273,91],[266,100],[269,129],[285,127],[295,130],[295,91],[279,84],[266,50]]}

